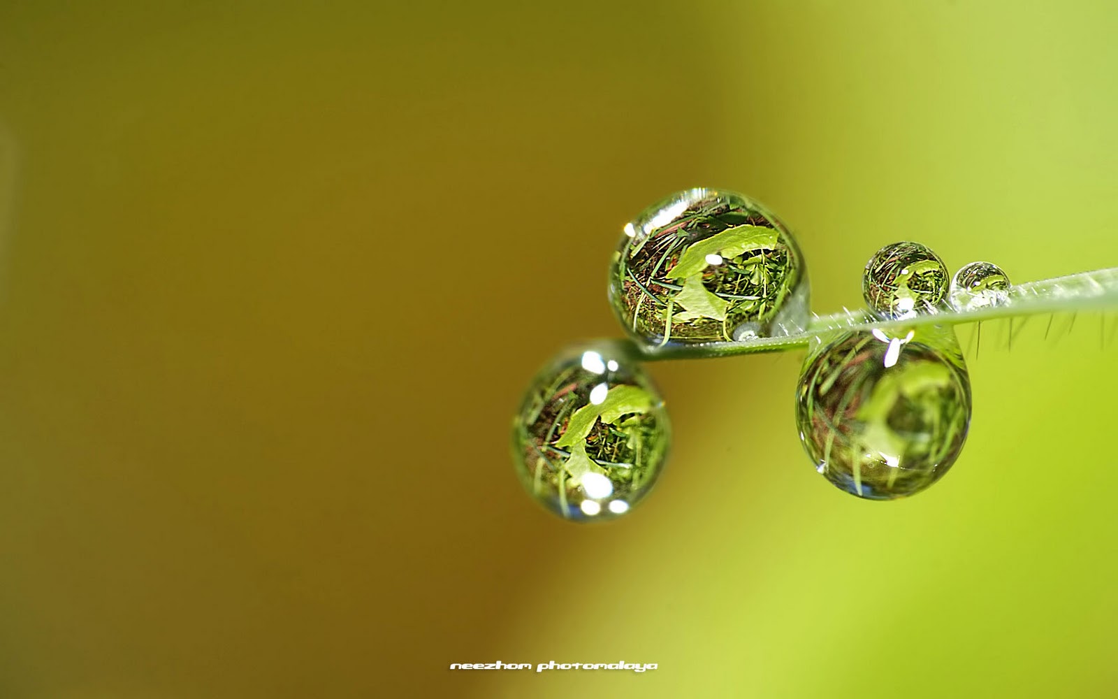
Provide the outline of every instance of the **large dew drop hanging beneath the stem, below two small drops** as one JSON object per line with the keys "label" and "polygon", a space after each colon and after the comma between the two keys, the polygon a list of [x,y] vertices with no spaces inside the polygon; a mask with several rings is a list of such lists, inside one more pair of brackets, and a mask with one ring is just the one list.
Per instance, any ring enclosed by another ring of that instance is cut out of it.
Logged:
{"label": "large dew drop hanging beneath the stem, below two small drops", "polygon": [[947,473],[970,425],[955,331],[846,332],[808,353],[796,424],[816,470],[868,500],[918,493]]}

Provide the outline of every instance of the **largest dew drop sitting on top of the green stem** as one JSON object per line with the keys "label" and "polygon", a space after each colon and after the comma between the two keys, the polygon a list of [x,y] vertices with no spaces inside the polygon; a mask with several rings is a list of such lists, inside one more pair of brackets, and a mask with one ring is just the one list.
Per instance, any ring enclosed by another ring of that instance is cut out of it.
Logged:
{"label": "largest dew drop sitting on top of the green stem", "polygon": [[804,256],[787,227],[731,191],[689,189],[626,224],[609,299],[638,341],[728,342],[800,332]]}

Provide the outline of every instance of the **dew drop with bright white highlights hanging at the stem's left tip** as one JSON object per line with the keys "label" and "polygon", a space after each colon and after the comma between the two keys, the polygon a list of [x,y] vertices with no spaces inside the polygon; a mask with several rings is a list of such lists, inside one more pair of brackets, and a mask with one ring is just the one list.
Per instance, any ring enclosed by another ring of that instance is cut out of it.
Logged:
{"label": "dew drop with bright white highlights hanging at the stem's left tip", "polygon": [[560,352],[513,419],[513,461],[528,493],[579,522],[628,512],[655,484],[670,442],[660,394],[619,342]]}

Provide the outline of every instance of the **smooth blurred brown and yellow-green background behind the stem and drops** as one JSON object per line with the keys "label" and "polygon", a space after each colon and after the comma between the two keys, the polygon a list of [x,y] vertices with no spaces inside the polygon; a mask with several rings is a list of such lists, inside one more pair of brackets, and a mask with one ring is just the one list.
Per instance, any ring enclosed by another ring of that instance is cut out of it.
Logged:
{"label": "smooth blurred brown and yellow-green background behind the stem and drops", "polygon": [[[814,472],[797,355],[652,367],[675,448],[614,525],[533,504],[508,429],[553,351],[619,332],[609,255],[673,190],[777,211],[819,312],[898,239],[1018,281],[1118,265],[1116,29],[0,4],[0,696],[1114,696],[1097,314],[984,328],[967,447],[908,501]],[[495,660],[659,669],[447,670]]]}

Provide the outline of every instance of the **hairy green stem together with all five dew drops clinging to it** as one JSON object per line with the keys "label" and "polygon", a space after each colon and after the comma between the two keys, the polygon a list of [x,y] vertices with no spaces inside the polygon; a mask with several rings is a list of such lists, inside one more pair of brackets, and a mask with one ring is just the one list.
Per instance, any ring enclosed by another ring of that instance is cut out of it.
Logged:
{"label": "hairy green stem together with all five dew drops clinging to it", "polygon": [[[642,365],[808,350],[797,432],[815,470],[865,500],[922,492],[951,467],[972,413],[954,327],[1118,310],[1118,267],[1011,284],[991,262],[953,276],[913,242],[865,265],[866,306],[809,310],[804,255],[787,227],[745,195],[676,192],[626,224],[609,300],[624,338],[567,346],[537,375],[513,421],[529,494],[571,521],[627,514],[653,488],[671,442],[664,402]],[[1025,325],[1022,320],[1016,331]],[[1070,324],[1068,329],[1070,330]],[[1045,330],[1045,337],[1048,336]]]}

